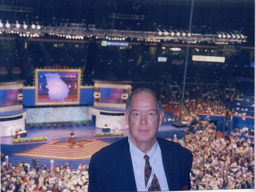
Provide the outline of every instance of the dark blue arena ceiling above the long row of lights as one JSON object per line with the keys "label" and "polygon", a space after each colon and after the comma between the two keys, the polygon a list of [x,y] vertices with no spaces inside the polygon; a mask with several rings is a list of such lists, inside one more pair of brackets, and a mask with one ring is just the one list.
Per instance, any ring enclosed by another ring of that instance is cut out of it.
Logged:
{"label": "dark blue arena ceiling above the long row of lights", "polygon": [[[2,0],[0,17],[2,21],[38,21],[45,26],[86,23],[134,31],[188,30],[191,19],[192,33],[238,31],[254,45],[254,0],[194,0],[193,14],[191,4],[192,0]],[[111,14],[143,19],[111,18]]]}

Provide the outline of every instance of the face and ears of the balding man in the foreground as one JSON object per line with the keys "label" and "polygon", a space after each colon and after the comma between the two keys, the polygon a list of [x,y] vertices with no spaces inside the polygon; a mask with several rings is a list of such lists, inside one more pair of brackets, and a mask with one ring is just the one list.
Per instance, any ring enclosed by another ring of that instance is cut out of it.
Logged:
{"label": "face and ears of the balding man in the foreground", "polygon": [[125,113],[125,119],[132,142],[136,146],[154,144],[164,112],[158,113],[153,95],[149,92],[137,93],[132,99],[129,111],[129,114]]}

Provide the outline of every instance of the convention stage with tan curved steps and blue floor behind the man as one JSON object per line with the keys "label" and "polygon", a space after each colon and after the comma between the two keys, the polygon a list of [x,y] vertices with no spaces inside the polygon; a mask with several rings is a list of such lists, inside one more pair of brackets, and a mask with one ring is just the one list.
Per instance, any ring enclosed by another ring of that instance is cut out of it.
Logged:
{"label": "convention stage with tan curved steps and blue floor behind the man", "polygon": [[[159,127],[158,137],[178,139],[185,136],[184,128],[176,128],[170,125]],[[76,141],[73,144],[68,142],[70,133],[74,132]],[[1,137],[1,152],[9,156],[9,161],[16,166],[18,162],[30,163],[36,158],[41,165],[50,166],[50,160],[55,165],[64,165],[66,162],[71,169],[77,169],[79,164],[88,164],[90,157],[102,147],[107,146],[119,139],[127,137],[128,129],[110,130],[108,133],[122,134],[115,137],[95,137],[95,134],[104,134],[100,128],[85,125],[60,126],[41,128],[36,127],[27,132],[27,138],[45,137],[45,142],[29,142],[13,144],[13,137]]]}

